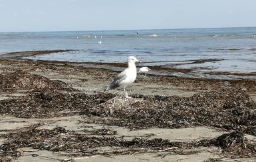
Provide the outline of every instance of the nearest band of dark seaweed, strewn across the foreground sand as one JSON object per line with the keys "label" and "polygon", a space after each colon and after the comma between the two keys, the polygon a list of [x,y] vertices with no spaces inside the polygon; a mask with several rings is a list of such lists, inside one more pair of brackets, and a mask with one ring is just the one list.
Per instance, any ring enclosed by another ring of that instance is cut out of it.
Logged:
{"label": "nearest band of dark seaweed, strewn across the foreground sand", "polygon": [[[98,134],[101,130],[97,131]],[[105,132],[106,130],[102,130]],[[87,136],[76,134],[62,127],[53,130],[37,129],[31,126],[25,130],[16,130],[6,135],[7,142],[0,145],[0,157],[7,161],[21,155],[19,148],[32,147],[33,149],[54,152],[65,152],[69,156],[92,156],[92,155],[127,155],[134,153],[168,153],[190,155],[196,153],[199,147],[222,147],[223,155],[231,158],[255,157],[256,143],[248,142],[241,132],[223,134],[217,138],[197,140],[195,142],[170,142],[162,138],[140,138],[124,140],[115,136]],[[99,147],[111,147],[108,151],[102,151]],[[36,153],[35,153],[36,154]],[[1,161],[1,160],[0,160]]]}

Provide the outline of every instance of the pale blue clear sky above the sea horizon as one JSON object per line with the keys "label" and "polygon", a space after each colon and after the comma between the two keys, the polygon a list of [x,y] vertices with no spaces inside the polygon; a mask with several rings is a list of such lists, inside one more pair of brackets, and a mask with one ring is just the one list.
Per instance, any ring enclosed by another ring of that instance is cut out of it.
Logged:
{"label": "pale blue clear sky above the sea horizon", "polygon": [[0,32],[256,26],[255,0],[0,0]]}

